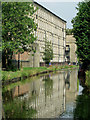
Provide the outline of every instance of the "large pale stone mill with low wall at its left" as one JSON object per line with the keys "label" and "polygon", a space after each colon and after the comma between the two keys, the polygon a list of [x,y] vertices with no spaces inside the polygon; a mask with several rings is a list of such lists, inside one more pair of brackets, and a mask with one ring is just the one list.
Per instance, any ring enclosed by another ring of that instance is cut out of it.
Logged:
{"label": "large pale stone mill with low wall at its left", "polygon": [[[35,32],[37,40],[34,42],[33,47],[36,53],[32,56],[32,52],[24,52],[20,54],[20,62],[24,67],[39,67],[44,66],[43,52],[45,46],[45,39],[51,41],[53,46],[53,60],[52,65],[65,64],[65,48],[66,48],[66,21],[43,7],[41,4],[34,2],[38,10],[33,15],[35,23],[38,28]],[[14,56],[14,61],[18,61],[18,55]]]}

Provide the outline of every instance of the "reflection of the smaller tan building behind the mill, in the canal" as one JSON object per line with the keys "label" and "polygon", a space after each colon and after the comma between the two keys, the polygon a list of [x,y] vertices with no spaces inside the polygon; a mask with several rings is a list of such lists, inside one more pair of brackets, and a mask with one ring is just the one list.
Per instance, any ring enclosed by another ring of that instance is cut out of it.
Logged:
{"label": "reflection of the smaller tan building behind the mill, in the canal", "polygon": [[77,70],[68,71],[66,85],[66,103],[75,101],[78,94],[77,91]]}

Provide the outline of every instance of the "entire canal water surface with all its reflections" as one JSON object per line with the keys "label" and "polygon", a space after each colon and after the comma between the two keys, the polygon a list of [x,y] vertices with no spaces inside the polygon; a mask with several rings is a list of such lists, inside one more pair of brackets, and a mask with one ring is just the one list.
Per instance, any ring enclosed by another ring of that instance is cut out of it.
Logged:
{"label": "entire canal water surface with all its reflections", "polygon": [[5,118],[90,118],[90,96],[83,93],[78,70],[28,78],[3,88]]}

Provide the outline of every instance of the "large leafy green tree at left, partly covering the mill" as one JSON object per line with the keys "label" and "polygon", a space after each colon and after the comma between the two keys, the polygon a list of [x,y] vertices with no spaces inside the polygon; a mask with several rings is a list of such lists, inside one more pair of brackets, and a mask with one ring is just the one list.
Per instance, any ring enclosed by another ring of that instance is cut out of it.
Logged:
{"label": "large leafy green tree at left, partly covering the mill", "polygon": [[4,67],[9,64],[13,52],[31,50],[36,40],[37,24],[31,17],[37,9],[29,2],[2,3],[2,52]]}

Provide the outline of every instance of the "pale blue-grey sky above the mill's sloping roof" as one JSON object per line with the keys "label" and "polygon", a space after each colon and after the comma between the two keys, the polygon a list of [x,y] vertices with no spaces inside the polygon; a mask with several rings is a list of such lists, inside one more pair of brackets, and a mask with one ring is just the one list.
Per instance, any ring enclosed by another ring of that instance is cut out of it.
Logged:
{"label": "pale blue-grey sky above the mill's sloping roof", "polygon": [[82,0],[35,0],[45,8],[67,21],[66,28],[73,28],[71,20],[76,16],[77,4]]}

